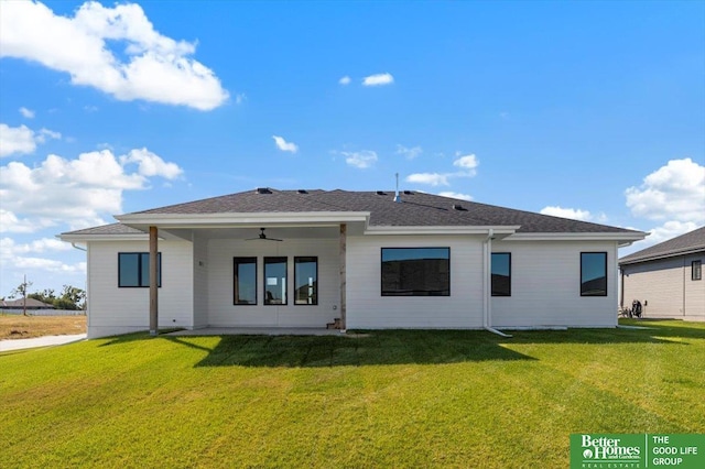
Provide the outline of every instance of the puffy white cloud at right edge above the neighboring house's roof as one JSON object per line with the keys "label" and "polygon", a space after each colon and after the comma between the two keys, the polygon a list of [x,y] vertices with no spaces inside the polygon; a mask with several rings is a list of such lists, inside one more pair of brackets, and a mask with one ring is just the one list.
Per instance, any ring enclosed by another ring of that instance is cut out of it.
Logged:
{"label": "puffy white cloud at right edge above the neighboring house's roof", "polygon": [[629,187],[627,207],[634,217],[649,220],[705,222],[705,166],[691,159],[671,160]]}

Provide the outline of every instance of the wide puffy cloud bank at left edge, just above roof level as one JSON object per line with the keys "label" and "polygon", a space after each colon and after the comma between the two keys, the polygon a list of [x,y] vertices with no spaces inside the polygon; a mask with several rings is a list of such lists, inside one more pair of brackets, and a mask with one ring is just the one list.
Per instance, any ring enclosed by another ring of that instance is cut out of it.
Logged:
{"label": "wide puffy cloud bank at left edge, just above roof level", "polygon": [[[137,171],[130,165],[137,163]],[[116,157],[109,150],[76,160],[48,155],[37,166],[20,162],[0,166],[0,230],[32,232],[64,222],[72,229],[101,225],[102,215],[122,211],[122,193],[148,187],[149,177],[183,173],[147,149]]]}

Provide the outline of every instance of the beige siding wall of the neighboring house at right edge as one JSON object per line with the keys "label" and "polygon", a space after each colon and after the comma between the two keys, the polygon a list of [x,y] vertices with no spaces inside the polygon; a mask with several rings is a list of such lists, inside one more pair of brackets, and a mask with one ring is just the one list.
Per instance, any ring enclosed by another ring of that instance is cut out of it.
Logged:
{"label": "beige siding wall of the neighboring house at right edge", "polygon": [[705,280],[691,280],[692,261],[705,253],[622,265],[625,306],[639,299],[644,317],[705,320]]}

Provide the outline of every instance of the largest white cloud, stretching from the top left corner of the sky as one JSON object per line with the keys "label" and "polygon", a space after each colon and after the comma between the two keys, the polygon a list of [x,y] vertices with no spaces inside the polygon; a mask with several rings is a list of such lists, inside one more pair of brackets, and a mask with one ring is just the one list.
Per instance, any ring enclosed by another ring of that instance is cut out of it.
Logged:
{"label": "largest white cloud, stretching from the top left corner of the sky", "polygon": [[124,101],[210,110],[228,99],[213,70],[189,57],[195,43],[160,34],[135,3],[88,1],[69,18],[42,3],[3,2],[0,45],[1,56],[39,62]]}

